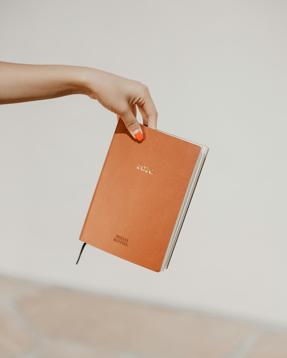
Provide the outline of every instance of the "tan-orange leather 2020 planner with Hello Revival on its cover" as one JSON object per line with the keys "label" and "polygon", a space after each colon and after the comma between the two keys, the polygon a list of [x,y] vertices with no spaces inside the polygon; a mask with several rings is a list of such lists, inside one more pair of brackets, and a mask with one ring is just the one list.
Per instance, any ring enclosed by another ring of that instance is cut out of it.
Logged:
{"label": "tan-orange leather 2020 planner with Hello Revival on its cover", "polygon": [[209,148],[140,126],[142,141],[118,120],[80,234],[80,256],[88,244],[160,272],[168,268]]}

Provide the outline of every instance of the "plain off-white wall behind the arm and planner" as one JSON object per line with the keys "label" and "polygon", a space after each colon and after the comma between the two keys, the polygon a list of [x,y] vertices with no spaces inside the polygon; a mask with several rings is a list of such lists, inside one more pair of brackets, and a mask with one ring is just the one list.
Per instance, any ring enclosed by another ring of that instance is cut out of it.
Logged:
{"label": "plain off-white wall behind the arm and planner", "polygon": [[210,147],[168,270],[78,240],[116,118],[84,96],[0,107],[0,272],[287,325],[286,2],[1,1],[1,60],[149,86]]}

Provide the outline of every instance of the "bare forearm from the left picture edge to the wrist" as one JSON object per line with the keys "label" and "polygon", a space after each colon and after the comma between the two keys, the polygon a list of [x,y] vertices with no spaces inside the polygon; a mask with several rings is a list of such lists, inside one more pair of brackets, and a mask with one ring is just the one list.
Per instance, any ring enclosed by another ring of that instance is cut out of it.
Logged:
{"label": "bare forearm from the left picture edge to the wrist", "polygon": [[0,62],[0,104],[46,100],[79,93],[85,67]]}

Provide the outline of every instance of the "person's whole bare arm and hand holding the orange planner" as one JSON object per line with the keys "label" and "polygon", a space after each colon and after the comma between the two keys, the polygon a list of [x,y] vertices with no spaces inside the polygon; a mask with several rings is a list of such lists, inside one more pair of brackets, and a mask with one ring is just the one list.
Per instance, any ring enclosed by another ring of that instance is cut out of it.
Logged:
{"label": "person's whole bare arm and hand holding the orange planner", "polygon": [[116,113],[137,140],[143,139],[137,107],[144,125],[156,129],[154,102],[139,81],[91,67],[0,62],[0,104],[75,94],[87,95]]}

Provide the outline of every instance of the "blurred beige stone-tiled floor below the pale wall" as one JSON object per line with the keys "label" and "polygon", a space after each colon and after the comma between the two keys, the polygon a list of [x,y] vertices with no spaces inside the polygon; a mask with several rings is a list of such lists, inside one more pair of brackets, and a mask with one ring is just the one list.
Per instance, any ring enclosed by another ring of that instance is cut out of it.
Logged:
{"label": "blurred beige stone-tiled floor below the pale wall", "polygon": [[287,332],[0,276],[9,357],[287,358]]}

